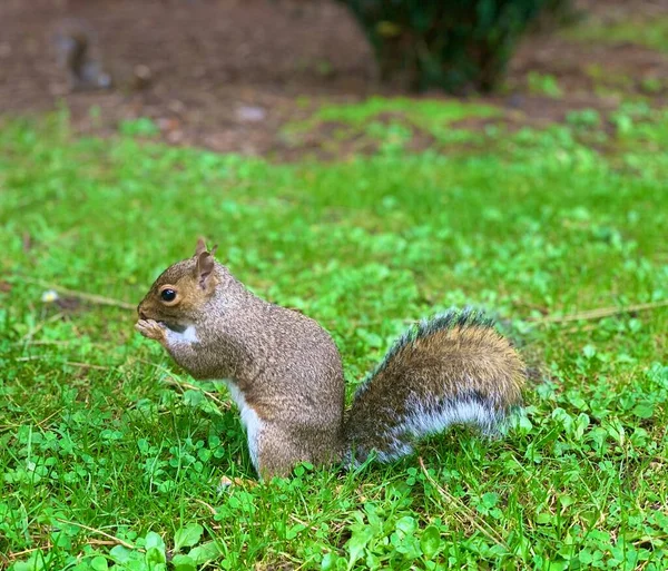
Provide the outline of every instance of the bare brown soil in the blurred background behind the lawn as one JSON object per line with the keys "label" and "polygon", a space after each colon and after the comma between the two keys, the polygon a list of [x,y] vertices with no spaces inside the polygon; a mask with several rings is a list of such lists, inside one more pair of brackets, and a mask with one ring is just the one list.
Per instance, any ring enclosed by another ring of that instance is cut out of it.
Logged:
{"label": "bare brown soil in the blurred background behind the lawn", "polygon": [[[606,21],[668,14],[666,0],[581,0],[579,7]],[[92,37],[92,56],[111,73],[111,89],[71,92],[56,38],[72,27]],[[563,95],[532,92],[530,72],[553,76]],[[601,76],[612,95],[600,93]],[[633,45],[576,42],[543,30],[512,60],[505,95],[489,101],[522,124],[543,125],[571,109],[608,111],[647,79],[667,77],[668,55]],[[297,147],[282,126],[325,101],[379,93],[405,95],[379,85],[362,32],[334,0],[0,3],[0,117],[65,105],[76,131],[96,135],[117,134],[120,121],[149,117],[169,144],[292,159],[326,147],[332,126],[315,129]],[[665,95],[650,93],[657,102]],[[415,145],[429,144],[423,137]]]}

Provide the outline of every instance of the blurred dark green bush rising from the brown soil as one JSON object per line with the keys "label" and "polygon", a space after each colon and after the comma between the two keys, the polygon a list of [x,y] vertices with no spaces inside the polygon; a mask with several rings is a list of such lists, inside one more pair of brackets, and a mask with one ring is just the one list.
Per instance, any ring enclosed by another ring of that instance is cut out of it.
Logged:
{"label": "blurred dark green bush rising from the brown soil", "polygon": [[519,39],[572,0],[340,0],[373,46],[384,80],[415,90],[490,91]]}

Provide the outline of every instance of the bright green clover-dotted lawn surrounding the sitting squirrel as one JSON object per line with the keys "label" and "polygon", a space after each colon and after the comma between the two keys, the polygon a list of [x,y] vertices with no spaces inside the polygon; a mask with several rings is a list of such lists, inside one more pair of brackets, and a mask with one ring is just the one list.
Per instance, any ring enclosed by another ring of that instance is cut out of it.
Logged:
{"label": "bright green clover-dotted lawn surrounding the sitting squirrel", "polygon": [[[668,298],[668,122],[620,110],[613,156],[583,142],[598,118],[571,122],[328,165],[3,124],[0,565],[668,568],[668,308],[540,321]],[[393,465],[258,484],[223,387],[131,311],[41,301],[137,303],[200,234],[332,332],[351,393],[407,322],[488,307],[541,366],[524,414],[500,441],[453,430]]]}

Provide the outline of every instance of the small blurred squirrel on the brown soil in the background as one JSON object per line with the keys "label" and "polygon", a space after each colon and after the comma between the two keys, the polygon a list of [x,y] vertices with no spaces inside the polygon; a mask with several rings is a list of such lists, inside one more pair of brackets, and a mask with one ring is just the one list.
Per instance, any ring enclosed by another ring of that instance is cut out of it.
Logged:
{"label": "small blurred squirrel on the brown soil in the background", "polygon": [[111,76],[104,69],[98,57],[92,55],[94,35],[78,20],[60,22],[55,35],[58,63],[67,73],[71,91],[109,89]]}

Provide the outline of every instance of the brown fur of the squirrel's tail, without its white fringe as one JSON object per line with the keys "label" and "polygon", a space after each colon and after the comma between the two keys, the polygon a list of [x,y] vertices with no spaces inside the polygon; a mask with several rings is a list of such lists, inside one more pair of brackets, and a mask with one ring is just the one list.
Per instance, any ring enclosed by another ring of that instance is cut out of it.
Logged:
{"label": "brown fur of the squirrel's tail, without its white fringe", "polygon": [[360,392],[346,420],[346,440],[360,460],[372,450],[386,451],[394,437],[404,442],[392,427],[412,413],[413,403],[432,401],[438,407],[444,396],[474,393],[504,414],[520,402],[523,382],[522,361],[494,329],[436,331],[401,347]]}

